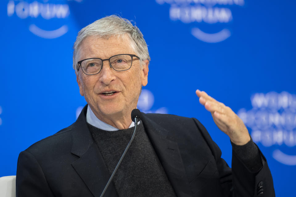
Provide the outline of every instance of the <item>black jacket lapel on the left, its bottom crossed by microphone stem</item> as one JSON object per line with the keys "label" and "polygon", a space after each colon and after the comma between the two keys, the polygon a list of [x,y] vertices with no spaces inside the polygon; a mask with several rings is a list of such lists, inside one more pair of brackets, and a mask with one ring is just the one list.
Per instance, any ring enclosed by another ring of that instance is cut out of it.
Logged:
{"label": "black jacket lapel on the left, its bottom crossed by microphone stem", "polygon": [[[86,111],[87,105],[83,108],[78,119],[72,125],[71,153],[79,157],[79,159],[72,163],[72,166],[92,192],[92,195],[99,197],[110,178],[110,174],[101,152],[96,143],[94,143],[87,127],[85,118]],[[104,196],[117,196],[113,182],[110,183]]]}

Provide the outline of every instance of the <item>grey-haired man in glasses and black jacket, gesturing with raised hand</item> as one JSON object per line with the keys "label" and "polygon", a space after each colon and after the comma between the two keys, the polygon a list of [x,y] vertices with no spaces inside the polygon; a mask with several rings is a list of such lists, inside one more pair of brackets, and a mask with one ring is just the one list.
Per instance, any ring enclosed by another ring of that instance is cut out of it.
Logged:
{"label": "grey-haired man in glasses and black jacket, gesturing with raised hand", "polygon": [[[19,155],[17,196],[100,196],[135,124],[149,53],[140,30],[108,16],[86,26],[73,67],[88,105],[71,126]],[[137,133],[104,196],[274,196],[266,160],[238,116],[196,90],[233,147],[232,169],[196,119],[142,114]]]}

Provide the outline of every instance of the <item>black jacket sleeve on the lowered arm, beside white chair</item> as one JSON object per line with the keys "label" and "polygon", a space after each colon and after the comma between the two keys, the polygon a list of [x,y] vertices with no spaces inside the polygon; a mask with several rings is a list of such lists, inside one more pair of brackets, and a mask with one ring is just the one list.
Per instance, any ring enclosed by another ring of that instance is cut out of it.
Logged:
{"label": "black jacket sleeve on the lowered arm, beside white chair", "polygon": [[17,197],[54,196],[38,161],[29,151],[19,154],[16,171]]}

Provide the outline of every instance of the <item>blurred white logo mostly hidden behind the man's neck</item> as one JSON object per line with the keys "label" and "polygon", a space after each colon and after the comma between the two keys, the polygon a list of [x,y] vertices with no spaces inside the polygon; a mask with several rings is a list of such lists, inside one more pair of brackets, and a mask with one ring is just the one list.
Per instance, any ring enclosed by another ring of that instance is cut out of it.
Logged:
{"label": "blurred white logo mostly hidden behind the man's neck", "polygon": [[[166,107],[160,107],[156,110],[152,109],[154,104],[154,95],[150,90],[143,89],[140,94],[137,108],[144,113],[158,113],[158,114],[167,114],[168,110]],[[76,109],[76,119],[78,118],[83,107],[78,107]]]}

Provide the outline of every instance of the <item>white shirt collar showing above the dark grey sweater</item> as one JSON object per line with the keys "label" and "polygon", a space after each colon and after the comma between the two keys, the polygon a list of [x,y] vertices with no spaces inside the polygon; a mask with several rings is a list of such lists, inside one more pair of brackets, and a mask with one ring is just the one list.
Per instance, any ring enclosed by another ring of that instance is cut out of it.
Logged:
{"label": "white shirt collar showing above the dark grey sweater", "polygon": [[[104,123],[100,119],[98,119],[97,116],[90,109],[89,105],[87,106],[86,122],[88,122],[89,124],[91,124],[94,127],[97,127],[99,129],[102,129],[102,130],[105,130],[105,131],[118,131],[119,130],[119,129],[115,128],[115,127],[112,127],[111,125],[109,125],[107,123]],[[140,123],[140,121],[138,122],[138,124],[139,123]],[[134,126],[135,126],[135,123],[132,122],[130,124],[130,127],[134,127]]]}

